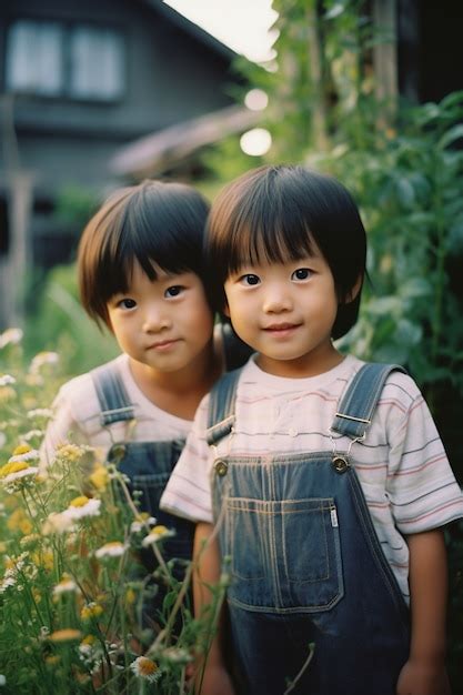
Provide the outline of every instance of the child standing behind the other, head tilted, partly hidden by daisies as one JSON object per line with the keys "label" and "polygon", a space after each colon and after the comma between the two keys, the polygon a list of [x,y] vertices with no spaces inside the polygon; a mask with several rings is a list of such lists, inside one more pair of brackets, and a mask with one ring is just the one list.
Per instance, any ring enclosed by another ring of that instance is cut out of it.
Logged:
{"label": "child standing behind the other, head tilted, partly hidden by daisies", "polygon": [[198,403],[240,348],[213,335],[208,212],[193,188],[145,181],[114,192],[90,220],[78,253],[82,304],[122,354],[61,387],[42,446],[44,464],[69,437],[117,463],[142,493],[140,511],[175,530],[167,560],[191,558],[194,525],[160,512],[161,493]]}

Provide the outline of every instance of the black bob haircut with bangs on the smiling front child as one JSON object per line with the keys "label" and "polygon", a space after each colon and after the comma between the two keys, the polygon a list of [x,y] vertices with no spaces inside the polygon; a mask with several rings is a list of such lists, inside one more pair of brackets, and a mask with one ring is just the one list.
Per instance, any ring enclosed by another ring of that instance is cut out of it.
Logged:
{"label": "black bob haircut with bangs on the smiling front child", "polygon": [[215,199],[207,225],[214,308],[223,312],[223,284],[243,265],[298,260],[314,248],[333,274],[339,308],[332,338],[338,339],[358,319],[366,273],[366,234],[352,195],[336,179],[303,167],[260,167],[239,177]]}

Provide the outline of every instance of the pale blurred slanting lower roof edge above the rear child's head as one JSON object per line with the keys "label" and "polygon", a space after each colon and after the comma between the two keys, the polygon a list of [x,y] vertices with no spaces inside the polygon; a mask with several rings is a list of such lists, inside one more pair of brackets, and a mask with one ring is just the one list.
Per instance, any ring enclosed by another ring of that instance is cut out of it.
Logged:
{"label": "pale blurred slanting lower roof edge above the rear child's head", "polygon": [[195,150],[253,127],[261,114],[232,105],[164,128],[121,148],[109,162],[112,174],[148,177],[170,169]]}

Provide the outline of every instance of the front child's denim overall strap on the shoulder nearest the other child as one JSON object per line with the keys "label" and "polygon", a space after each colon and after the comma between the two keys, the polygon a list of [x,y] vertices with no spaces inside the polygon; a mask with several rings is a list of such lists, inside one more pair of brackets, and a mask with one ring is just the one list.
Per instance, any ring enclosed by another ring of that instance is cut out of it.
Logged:
{"label": "front child's denim overall strap on the shoulder nearest the other child", "polygon": [[230,434],[234,423],[234,401],[241,369],[227,372],[214,384],[210,393],[208,414],[208,444],[217,444]]}

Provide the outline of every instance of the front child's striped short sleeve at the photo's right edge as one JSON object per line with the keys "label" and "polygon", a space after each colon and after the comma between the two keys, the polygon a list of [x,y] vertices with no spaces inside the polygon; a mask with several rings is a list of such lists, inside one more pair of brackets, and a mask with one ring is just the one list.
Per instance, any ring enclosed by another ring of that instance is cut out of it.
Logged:
{"label": "front child's striped short sleeve at the photo's right edge", "polygon": [[462,517],[463,495],[422,394],[409,376],[401,381],[397,387],[409,397],[403,415],[387,432],[386,493],[395,524],[407,535]]}

